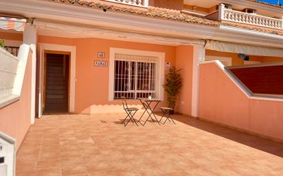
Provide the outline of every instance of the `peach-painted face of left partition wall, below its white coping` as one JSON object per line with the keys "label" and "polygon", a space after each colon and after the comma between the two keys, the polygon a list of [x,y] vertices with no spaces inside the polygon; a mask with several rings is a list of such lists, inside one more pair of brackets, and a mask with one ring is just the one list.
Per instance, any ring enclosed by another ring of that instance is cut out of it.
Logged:
{"label": "peach-painted face of left partition wall, below its white coping", "polygon": [[21,146],[21,142],[30,128],[31,78],[32,53],[29,53],[19,101],[0,109],[0,131],[16,139],[16,150]]}

